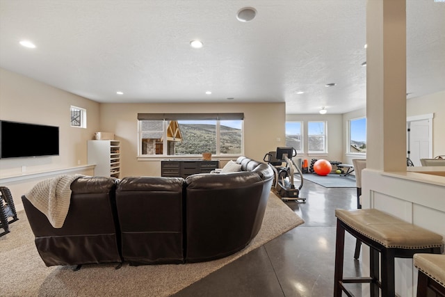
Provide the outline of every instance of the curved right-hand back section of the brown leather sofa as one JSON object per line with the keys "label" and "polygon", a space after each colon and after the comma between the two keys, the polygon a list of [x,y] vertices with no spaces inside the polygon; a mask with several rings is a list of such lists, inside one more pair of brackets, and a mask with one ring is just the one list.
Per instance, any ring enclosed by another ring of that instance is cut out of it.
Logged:
{"label": "curved right-hand back section of the brown leather sofa", "polygon": [[186,178],[186,262],[232,255],[257,235],[273,171],[264,163],[253,169]]}

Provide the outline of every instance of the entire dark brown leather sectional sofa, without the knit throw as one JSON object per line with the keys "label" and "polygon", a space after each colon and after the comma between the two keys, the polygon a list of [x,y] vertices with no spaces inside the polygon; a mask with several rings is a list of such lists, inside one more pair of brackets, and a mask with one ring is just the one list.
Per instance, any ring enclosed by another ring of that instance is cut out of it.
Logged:
{"label": "entire dark brown leather sectional sofa, without the knit throw", "polygon": [[47,266],[181,264],[231,255],[261,228],[273,170],[245,156],[241,172],[180,177],[81,177],[62,228],[22,196]]}

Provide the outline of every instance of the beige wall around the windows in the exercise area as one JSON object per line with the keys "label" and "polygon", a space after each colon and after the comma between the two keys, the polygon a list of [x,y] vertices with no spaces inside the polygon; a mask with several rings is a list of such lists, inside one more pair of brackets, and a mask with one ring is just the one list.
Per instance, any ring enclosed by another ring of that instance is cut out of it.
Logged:
{"label": "beige wall around the windows in the exercise area", "polygon": [[[288,114],[286,121],[302,121],[303,122],[303,145],[304,154],[298,155],[298,158],[307,159],[326,159],[329,161],[343,162],[343,126],[341,115],[320,115],[320,114]],[[307,154],[307,122],[309,121],[326,121],[327,122],[327,155]]]}

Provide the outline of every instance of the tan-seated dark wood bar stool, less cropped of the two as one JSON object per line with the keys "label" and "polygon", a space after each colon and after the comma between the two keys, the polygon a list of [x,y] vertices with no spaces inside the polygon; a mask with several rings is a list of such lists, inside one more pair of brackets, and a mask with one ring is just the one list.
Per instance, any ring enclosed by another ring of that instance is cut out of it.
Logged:
{"label": "tan-seated dark wood bar stool, less cropped of the two", "polygon": [[[393,297],[394,259],[412,258],[416,253],[439,254],[442,236],[422,227],[407,223],[378,209],[336,209],[337,239],[335,249],[334,297],[340,297],[346,283],[371,284],[371,297]],[[343,278],[345,231],[370,248],[369,277]],[[380,263],[379,263],[380,253]],[[381,271],[381,276],[379,276]]]}

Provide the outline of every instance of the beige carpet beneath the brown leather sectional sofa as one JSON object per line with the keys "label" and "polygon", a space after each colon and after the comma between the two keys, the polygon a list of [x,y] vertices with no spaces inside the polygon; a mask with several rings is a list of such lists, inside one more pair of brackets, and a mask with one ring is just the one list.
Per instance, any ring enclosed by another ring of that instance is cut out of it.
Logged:
{"label": "beige carpet beneath the brown leather sectional sofa", "polygon": [[259,234],[244,250],[211,262],[129,266],[47,267],[34,245],[24,211],[0,237],[0,296],[170,296],[303,222],[273,193]]}

